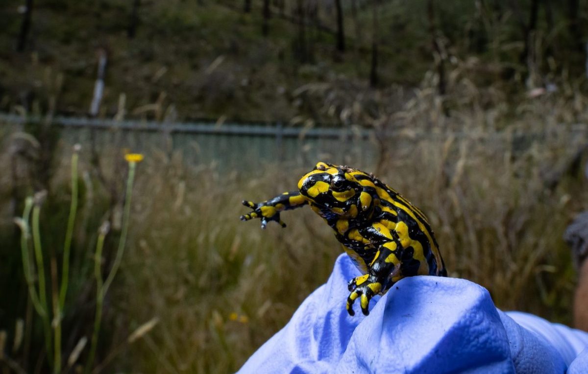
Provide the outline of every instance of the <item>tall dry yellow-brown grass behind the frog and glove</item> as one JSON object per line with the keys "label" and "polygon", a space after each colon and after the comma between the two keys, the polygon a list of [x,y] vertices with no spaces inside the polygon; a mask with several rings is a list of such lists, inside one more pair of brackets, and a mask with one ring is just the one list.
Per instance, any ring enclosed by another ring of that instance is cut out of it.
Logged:
{"label": "tall dry yellow-brown grass behind the frog and glove", "polygon": [[[532,114],[522,123],[544,115]],[[586,186],[564,176],[550,190],[547,171],[563,168],[583,138],[569,126],[547,128],[549,137],[526,145],[492,130],[405,134],[387,140],[402,146],[387,149],[377,175],[429,214],[450,275],[484,285],[500,308],[569,322],[574,272],[562,234],[586,207]],[[132,320],[158,316],[161,326],[129,352],[131,362],[159,372],[235,370],[326,281],[340,251],[319,217],[288,212],[288,228],[266,231],[237,219],[242,198],[290,190],[304,171],[196,169],[180,154],[145,164],[116,299]]]}

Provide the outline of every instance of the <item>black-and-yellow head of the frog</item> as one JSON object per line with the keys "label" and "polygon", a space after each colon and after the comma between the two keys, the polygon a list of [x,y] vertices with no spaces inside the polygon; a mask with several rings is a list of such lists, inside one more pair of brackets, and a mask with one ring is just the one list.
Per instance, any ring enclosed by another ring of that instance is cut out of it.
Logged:
{"label": "black-and-yellow head of the frog", "polygon": [[361,206],[362,185],[353,176],[358,170],[319,162],[298,181],[300,194],[323,217],[355,218]]}

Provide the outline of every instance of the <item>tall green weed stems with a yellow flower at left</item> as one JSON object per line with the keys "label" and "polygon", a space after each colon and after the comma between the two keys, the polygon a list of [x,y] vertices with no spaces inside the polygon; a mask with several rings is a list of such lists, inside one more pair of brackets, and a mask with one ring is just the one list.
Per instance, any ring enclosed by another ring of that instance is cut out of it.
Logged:
{"label": "tall green weed stems with a yellow flower at left", "polygon": [[[43,326],[43,335],[45,340],[45,351],[44,356],[46,356],[47,364],[52,369],[54,373],[61,373],[62,372],[62,363],[64,363],[64,357],[62,356],[62,320],[64,319],[64,315],[66,314],[65,309],[65,301],[66,301],[66,294],[67,289],[69,286],[69,266],[70,266],[70,254],[71,254],[71,243],[72,237],[74,234],[74,227],[76,224],[76,213],[77,213],[77,205],[78,205],[78,152],[81,149],[79,144],[74,146],[74,153],[71,157],[71,204],[69,207],[69,218],[67,221],[66,233],[65,233],[65,244],[64,250],[61,253],[63,264],[59,269],[61,271],[61,282],[58,281],[58,268],[57,268],[57,260],[56,254],[54,249],[52,248],[49,251],[49,254],[42,250],[42,239],[41,239],[41,223],[39,217],[41,215],[41,206],[44,203],[47,197],[47,191],[42,190],[35,194],[34,197],[27,197],[25,199],[25,207],[22,217],[15,218],[15,223],[18,225],[21,231],[21,255],[22,255],[22,269],[24,272],[24,277],[26,279],[26,284],[28,286],[29,297],[34,306],[34,309],[38,316],[41,318],[42,326]],[[129,175],[127,178],[126,183],[126,193],[125,193],[125,203],[124,203],[124,213],[122,217],[122,229],[121,229],[121,237],[119,238],[118,248],[116,250],[116,258],[113,261],[112,268],[108,272],[108,277],[106,281],[102,280],[102,249],[104,246],[104,240],[106,234],[108,234],[110,223],[109,221],[105,221],[98,234],[98,241],[96,244],[96,251],[93,257],[95,261],[94,264],[94,275],[96,279],[96,296],[95,296],[95,304],[96,310],[95,315],[93,316],[94,319],[94,328],[92,331],[92,341],[91,347],[89,348],[89,355],[88,360],[85,366],[85,372],[89,373],[92,368],[96,366],[95,363],[95,353],[96,347],[98,345],[98,336],[101,328],[101,321],[102,321],[102,308],[103,308],[103,301],[106,296],[106,292],[108,288],[112,284],[112,281],[118,271],[121,261],[122,255],[125,249],[126,243],[126,235],[128,233],[128,225],[129,225],[129,216],[131,211],[131,196],[132,196],[132,187],[133,187],[133,180],[135,176],[135,168],[136,163],[141,161],[143,156],[141,154],[128,154],[126,156],[126,160],[129,163]],[[30,216],[32,211],[32,223],[29,223]],[[79,224],[79,223],[78,223]],[[31,231],[32,231],[32,245],[31,241]],[[54,233],[49,233],[49,235]],[[55,235],[55,234],[54,234]],[[59,236],[59,235],[55,235]],[[10,246],[10,242],[6,243]],[[30,260],[30,252],[31,247],[34,252],[34,257],[36,261],[36,266]],[[51,291],[48,291],[47,285],[47,278],[45,277],[45,262],[49,260],[51,268]],[[79,268],[76,270],[80,270]],[[72,279],[72,281],[80,283],[84,280],[79,278],[80,276],[84,276],[85,274],[77,274],[78,278]],[[35,288],[35,280],[38,279],[38,290]],[[59,286],[58,291],[58,284]],[[51,306],[47,300],[47,295],[51,295]],[[79,295],[77,295],[79,297]],[[70,306],[70,305],[68,305]],[[28,306],[30,308],[30,304]],[[51,312],[50,312],[51,310]],[[22,320],[21,320],[22,322]],[[27,329],[33,329],[35,322],[32,321],[30,318],[28,319],[28,325],[26,326]],[[27,331],[28,334],[31,332]],[[145,332],[143,332],[145,333]],[[21,332],[22,334],[22,332]],[[75,336],[70,336],[70,338],[76,338]],[[137,339],[138,336],[135,336],[134,339]],[[74,349],[71,352],[69,359],[68,359],[68,366],[64,368],[64,370],[68,370],[76,363],[78,359],[79,353],[85,346],[87,338],[82,336],[79,338],[78,345],[79,349]],[[28,342],[29,344],[31,342]],[[21,343],[16,343],[14,345],[14,351],[17,351],[20,348]],[[26,350],[30,349],[29,346],[24,348]],[[76,352],[77,351],[77,352]],[[74,354],[74,352],[76,352]],[[28,355],[28,352],[26,352]],[[39,356],[39,360],[37,361],[37,369],[44,370],[45,367],[44,363],[42,362],[43,355]],[[22,369],[17,363],[12,360],[6,361],[12,369],[17,372],[20,372]],[[41,366],[39,366],[41,365]]]}

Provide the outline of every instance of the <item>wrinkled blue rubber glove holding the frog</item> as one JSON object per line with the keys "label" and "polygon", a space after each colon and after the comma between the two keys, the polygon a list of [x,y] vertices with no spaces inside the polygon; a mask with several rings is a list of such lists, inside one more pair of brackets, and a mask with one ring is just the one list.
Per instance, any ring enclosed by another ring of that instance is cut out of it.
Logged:
{"label": "wrinkled blue rubber glove holding the frog", "polygon": [[357,275],[340,256],[329,281],[239,372],[564,373],[571,363],[570,373],[588,373],[588,351],[573,361],[588,333],[498,311],[485,288],[464,279],[402,279],[372,299],[369,316],[351,317],[347,282]]}

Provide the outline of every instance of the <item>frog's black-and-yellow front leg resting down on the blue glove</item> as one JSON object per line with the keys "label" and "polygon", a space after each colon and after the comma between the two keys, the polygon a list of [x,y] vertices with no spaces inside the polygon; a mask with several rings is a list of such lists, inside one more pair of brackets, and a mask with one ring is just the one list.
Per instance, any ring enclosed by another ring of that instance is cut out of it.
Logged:
{"label": "frog's black-and-yellow front leg resting down on the blue glove", "polygon": [[369,302],[374,295],[380,294],[390,288],[400,273],[399,253],[402,248],[397,241],[386,242],[380,245],[375,257],[369,265],[368,274],[360,275],[349,281],[349,297],[346,309],[349,315],[355,315],[353,303],[360,299],[360,306],[364,315],[369,315]]}

